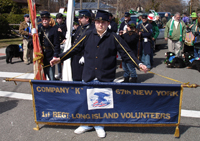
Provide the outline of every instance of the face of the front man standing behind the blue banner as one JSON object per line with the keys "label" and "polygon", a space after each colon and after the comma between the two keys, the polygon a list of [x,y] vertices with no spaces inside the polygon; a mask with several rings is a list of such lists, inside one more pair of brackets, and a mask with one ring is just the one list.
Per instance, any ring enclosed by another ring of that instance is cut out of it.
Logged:
{"label": "face of the front man standing behind the blue banner", "polygon": [[102,34],[105,32],[105,30],[108,28],[110,22],[108,21],[102,21],[102,20],[96,20],[95,21],[95,27],[97,30],[97,33]]}

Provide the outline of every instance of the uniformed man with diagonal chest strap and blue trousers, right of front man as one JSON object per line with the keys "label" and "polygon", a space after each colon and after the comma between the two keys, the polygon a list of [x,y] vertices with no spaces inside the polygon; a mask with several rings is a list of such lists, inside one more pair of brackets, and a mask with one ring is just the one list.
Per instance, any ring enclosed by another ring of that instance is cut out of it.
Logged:
{"label": "uniformed man with diagonal chest strap and blue trousers, right of front man", "polygon": [[141,61],[147,66],[148,70],[151,69],[151,42],[153,27],[148,23],[147,15],[142,15],[142,23],[138,25],[139,35],[141,38],[139,50],[141,51]]}

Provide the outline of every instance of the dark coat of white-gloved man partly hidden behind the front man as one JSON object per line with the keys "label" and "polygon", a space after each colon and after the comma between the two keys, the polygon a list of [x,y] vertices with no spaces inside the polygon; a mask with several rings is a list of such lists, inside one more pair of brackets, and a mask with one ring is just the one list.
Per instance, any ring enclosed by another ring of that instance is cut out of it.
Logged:
{"label": "dark coat of white-gloved man partly hidden behind the front man", "polygon": [[[86,31],[92,30],[94,26],[91,24],[85,25],[85,26],[79,26],[72,37],[72,43],[73,46],[78,41],[78,39],[81,37],[82,34],[84,34]],[[79,64],[79,60],[83,56],[84,51],[74,55],[71,58],[71,67],[72,67],[72,79],[74,81],[82,81],[82,73],[83,73],[83,66],[84,64]]]}

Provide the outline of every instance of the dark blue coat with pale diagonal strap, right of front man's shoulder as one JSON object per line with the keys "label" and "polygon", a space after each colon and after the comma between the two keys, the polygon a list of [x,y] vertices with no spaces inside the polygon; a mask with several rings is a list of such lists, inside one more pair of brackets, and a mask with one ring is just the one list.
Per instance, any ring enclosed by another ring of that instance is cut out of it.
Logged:
{"label": "dark blue coat with pale diagonal strap, right of front man's shoulder", "polygon": [[[148,32],[145,30],[145,28],[142,26],[142,24],[144,26],[146,26],[146,29],[148,30]],[[137,29],[139,30],[139,32],[142,32],[141,35],[141,43],[140,43],[140,51],[144,50],[144,54],[151,54],[151,41],[152,41],[152,34],[153,34],[153,27],[151,24],[149,24],[148,22],[146,23],[141,23],[138,25]],[[144,38],[148,38],[148,42],[144,42]]]}

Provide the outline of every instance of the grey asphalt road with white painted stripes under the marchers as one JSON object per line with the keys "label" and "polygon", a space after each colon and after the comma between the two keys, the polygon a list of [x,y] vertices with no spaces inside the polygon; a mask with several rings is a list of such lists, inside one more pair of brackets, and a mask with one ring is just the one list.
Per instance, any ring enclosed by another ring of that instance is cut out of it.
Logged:
{"label": "grey asphalt road with white painted stripes under the marchers", "polygon": [[[200,84],[200,75],[196,70],[170,69],[163,63],[167,46],[155,53],[153,73],[138,73],[139,83],[178,84],[164,78],[173,78],[183,83]],[[33,78],[33,66],[25,65],[18,58],[13,59],[14,64],[6,64],[5,59],[0,60],[0,141],[64,141],[64,140],[100,140],[94,130],[76,135],[76,127],[47,126],[36,127],[33,114],[31,87],[28,82],[5,82],[6,77]],[[26,73],[26,74],[24,74]],[[21,75],[24,74],[24,75]],[[159,74],[159,75],[157,75]],[[116,81],[123,78],[123,70],[117,69]],[[161,76],[160,76],[161,75]],[[162,77],[164,76],[164,77]],[[107,136],[101,140],[109,141],[197,141],[200,140],[200,88],[184,88],[181,110],[180,138],[174,138],[175,127],[105,127]]]}

